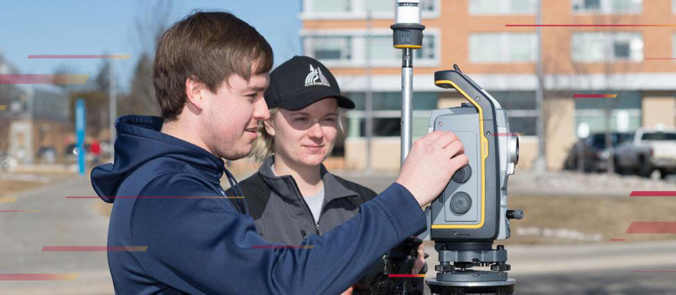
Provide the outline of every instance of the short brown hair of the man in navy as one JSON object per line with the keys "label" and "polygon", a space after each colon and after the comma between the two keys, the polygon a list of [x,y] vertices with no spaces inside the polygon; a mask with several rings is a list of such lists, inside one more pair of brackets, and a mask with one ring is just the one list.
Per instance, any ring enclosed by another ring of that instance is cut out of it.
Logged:
{"label": "short brown hair of the man in navy", "polygon": [[270,44],[242,19],[228,12],[193,12],[158,41],[153,84],[162,116],[176,119],[183,111],[187,78],[216,93],[233,73],[248,80],[269,72],[272,64]]}

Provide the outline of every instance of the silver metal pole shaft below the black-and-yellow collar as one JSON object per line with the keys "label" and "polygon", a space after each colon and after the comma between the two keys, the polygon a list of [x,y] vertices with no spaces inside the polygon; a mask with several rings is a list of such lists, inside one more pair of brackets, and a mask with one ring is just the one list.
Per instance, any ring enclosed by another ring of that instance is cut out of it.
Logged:
{"label": "silver metal pole shaft below the black-and-yellow collar", "polygon": [[413,56],[410,48],[404,48],[401,65],[401,154],[404,163],[412,143],[413,116]]}

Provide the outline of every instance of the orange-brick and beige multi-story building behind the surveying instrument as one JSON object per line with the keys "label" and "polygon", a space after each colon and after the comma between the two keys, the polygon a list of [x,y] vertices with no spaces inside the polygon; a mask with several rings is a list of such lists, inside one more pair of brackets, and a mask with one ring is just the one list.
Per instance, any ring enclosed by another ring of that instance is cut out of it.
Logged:
{"label": "orange-brick and beige multi-story building behind the surveying instrument", "polygon": [[[357,104],[346,114],[346,168],[366,164],[369,89],[371,165],[375,170],[399,165],[401,53],[392,48],[389,28],[395,2],[303,0],[303,54],[324,62]],[[538,38],[532,26],[537,5],[536,0],[422,0],[426,28],[414,59],[414,136],[427,132],[430,109],[462,102],[455,91],[434,87],[433,78],[434,71],[458,64],[509,110],[512,131],[523,133],[519,166],[532,164],[538,145]],[[549,168],[561,168],[578,129],[631,132],[676,124],[676,27],[633,26],[676,24],[676,0],[543,0],[541,24],[575,25],[541,28]],[[573,98],[575,93],[618,96]]]}

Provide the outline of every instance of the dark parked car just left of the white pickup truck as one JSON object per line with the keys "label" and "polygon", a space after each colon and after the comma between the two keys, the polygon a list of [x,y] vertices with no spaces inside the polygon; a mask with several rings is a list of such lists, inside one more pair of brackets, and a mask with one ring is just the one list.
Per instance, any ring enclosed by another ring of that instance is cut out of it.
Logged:
{"label": "dark parked car just left of the white pickup truck", "polygon": [[[611,148],[606,147],[605,133],[592,133],[585,138],[580,138],[564,161],[564,169],[579,169],[580,154],[584,163],[585,172],[602,172],[608,169],[608,158],[611,157],[614,147],[624,143],[632,137],[627,132],[612,132],[610,134]],[[582,149],[582,151],[580,151]]]}

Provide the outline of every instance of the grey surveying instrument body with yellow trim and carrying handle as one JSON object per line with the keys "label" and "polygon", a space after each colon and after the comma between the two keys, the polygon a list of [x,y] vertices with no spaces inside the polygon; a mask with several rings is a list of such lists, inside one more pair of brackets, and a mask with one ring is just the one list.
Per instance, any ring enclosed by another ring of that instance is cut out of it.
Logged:
{"label": "grey surveying instrument body with yellow trim and carrying handle", "polygon": [[457,134],[469,159],[432,202],[428,224],[435,242],[480,242],[509,238],[507,178],[518,161],[518,138],[509,131],[507,111],[459,70],[437,71],[434,84],[455,89],[469,103],[435,109],[429,131]]}

